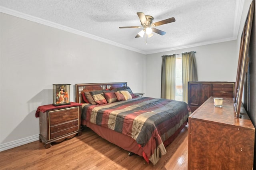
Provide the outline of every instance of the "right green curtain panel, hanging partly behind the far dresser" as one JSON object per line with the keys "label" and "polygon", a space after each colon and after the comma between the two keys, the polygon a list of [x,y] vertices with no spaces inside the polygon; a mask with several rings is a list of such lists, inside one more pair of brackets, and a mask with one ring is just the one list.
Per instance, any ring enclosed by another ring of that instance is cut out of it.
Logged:
{"label": "right green curtain panel, hanging partly behind the far dresser", "polygon": [[195,51],[182,53],[183,101],[188,103],[188,81],[197,81]]}

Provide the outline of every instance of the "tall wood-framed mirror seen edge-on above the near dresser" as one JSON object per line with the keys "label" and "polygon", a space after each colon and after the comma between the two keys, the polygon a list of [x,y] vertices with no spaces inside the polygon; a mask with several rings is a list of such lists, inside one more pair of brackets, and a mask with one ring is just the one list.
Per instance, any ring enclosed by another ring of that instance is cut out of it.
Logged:
{"label": "tall wood-framed mirror seen edge-on above the near dresser", "polygon": [[236,112],[236,117],[240,115],[240,109],[242,104],[242,93],[244,87],[244,78],[248,71],[248,49],[249,49],[249,42],[250,42],[250,35],[252,30],[252,19],[254,15],[254,0],[250,5],[249,12],[247,14],[247,18],[244,24],[244,29],[241,36],[240,42],[240,51],[239,51],[239,58],[238,58],[238,68],[236,74],[236,84],[234,89],[234,109]]}

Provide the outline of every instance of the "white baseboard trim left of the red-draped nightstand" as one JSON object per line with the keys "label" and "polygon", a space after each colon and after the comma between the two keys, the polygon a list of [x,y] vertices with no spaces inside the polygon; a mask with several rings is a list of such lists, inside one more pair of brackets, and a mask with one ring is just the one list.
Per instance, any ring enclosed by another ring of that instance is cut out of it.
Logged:
{"label": "white baseboard trim left of the red-draped nightstand", "polygon": [[28,144],[30,142],[34,142],[38,139],[39,139],[38,134],[36,134],[34,136],[29,136],[29,137],[18,139],[18,140],[8,142],[8,143],[5,143],[5,144],[0,144],[0,152],[4,151],[4,150],[11,149],[11,148],[15,148],[17,146]]}

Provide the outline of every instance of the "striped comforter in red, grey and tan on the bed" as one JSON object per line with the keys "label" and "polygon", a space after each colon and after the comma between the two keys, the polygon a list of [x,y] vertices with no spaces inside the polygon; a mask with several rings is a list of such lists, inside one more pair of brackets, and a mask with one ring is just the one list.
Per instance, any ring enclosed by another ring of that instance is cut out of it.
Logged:
{"label": "striped comforter in red, grey and tan on the bed", "polygon": [[82,119],[132,137],[143,157],[156,164],[166,154],[164,141],[178,130],[189,115],[185,102],[137,97],[102,105],[85,105]]}

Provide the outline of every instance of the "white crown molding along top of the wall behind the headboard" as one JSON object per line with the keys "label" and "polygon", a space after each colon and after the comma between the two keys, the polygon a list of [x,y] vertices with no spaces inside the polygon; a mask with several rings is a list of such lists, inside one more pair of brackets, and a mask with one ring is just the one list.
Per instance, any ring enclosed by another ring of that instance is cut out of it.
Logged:
{"label": "white crown molding along top of the wall behind the headboard", "polygon": [[110,40],[107,40],[107,39],[104,39],[104,38],[100,38],[98,36],[94,36],[92,34],[88,34],[86,32],[76,30],[74,28],[70,28],[70,27],[67,27],[67,26],[63,26],[61,24],[57,24],[55,22],[50,22],[50,21],[44,20],[42,18],[34,17],[34,16],[31,16],[31,15],[28,15],[28,14],[24,14],[22,12],[11,10],[11,9],[3,7],[3,6],[0,6],[0,12],[11,15],[11,16],[16,16],[18,18],[22,18],[22,19],[25,19],[25,20],[28,20],[28,21],[36,22],[38,24],[42,24],[42,25],[45,25],[45,26],[50,26],[52,28],[57,28],[59,30],[63,30],[63,31],[66,31],[66,32],[77,34],[77,35],[80,35],[80,36],[83,36],[83,37],[86,37],[86,38],[97,40],[99,42],[108,43],[108,44],[114,45],[116,47],[121,47],[121,48],[128,49],[128,50],[131,50],[131,51],[135,51],[135,52],[138,52],[138,53],[146,54],[145,51],[142,51],[142,50],[139,50],[139,49],[136,49],[136,48],[133,48],[133,47],[129,47],[127,45],[122,45],[120,43],[116,43],[116,42],[113,42],[113,41],[110,41]]}

